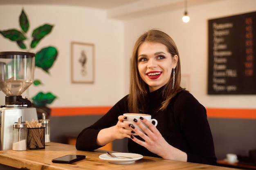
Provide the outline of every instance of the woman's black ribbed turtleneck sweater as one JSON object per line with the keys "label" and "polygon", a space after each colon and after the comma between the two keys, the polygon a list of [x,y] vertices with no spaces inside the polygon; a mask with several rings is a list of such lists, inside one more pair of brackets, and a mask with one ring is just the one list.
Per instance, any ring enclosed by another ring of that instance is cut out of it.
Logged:
{"label": "woman's black ribbed turtleneck sweater", "polygon": [[[187,154],[188,162],[216,165],[213,138],[204,106],[189,92],[181,91],[171,100],[166,110],[155,111],[163,101],[162,90],[163,87],[148,94],[145,113],[157,120],[158,131],[170,145]],[[129,113],[128,95],[92,126],[81,131],[76,140],[76,149],[91,151],[100,148],[96,144],[99,131],[115,126],[118,116],[124,113]],[[131,139],[128,139],[128,150],[130,153],[159,157]]]}

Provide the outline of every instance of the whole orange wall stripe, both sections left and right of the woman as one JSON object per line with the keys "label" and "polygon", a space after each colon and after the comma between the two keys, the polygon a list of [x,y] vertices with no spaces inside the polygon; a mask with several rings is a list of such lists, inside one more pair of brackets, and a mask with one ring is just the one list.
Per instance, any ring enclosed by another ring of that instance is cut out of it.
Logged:
{"label": "whole orange wall stripe, both sections left and right of the woman", "polygon": [[[103,115],[112,106],[106,107],[54,107],[51,116]],[[208,118],[256,119],[256,109],[206,108]]]}

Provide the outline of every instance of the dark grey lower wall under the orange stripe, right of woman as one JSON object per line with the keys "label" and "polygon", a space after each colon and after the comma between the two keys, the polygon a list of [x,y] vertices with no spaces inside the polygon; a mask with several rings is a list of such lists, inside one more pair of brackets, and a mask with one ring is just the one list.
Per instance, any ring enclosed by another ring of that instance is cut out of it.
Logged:
{"label": "dark grey lower wall under the orange stripe, right of woman", "polygon": [[247,156],[256,149],[256,120],[208,118],[217,159],[227,153]]}

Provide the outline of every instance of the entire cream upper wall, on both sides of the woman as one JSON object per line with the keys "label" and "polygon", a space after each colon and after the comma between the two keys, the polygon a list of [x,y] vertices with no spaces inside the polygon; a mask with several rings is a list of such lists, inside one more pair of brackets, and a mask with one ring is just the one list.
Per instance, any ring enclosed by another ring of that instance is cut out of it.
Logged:
{"label": "entire cream upper wall, on both sides of the woman", "polygon": [[[106,11],[65,6],[24,6],[30,31],[37,26],[54,24],[50,35],[36,48],[53,45],[58,59],[47,75],[36,68],[35,78],[44,85],[31,86],[30,96],[51,91],[58,96],[52,107],[111,106],[128,94],[130,56],[139,35],[150,28],[160,28],[176,42],[180,52],[182,74],[190,76],[190,92],[205,106],[218,108],[256,108],[256,95],[207,95],[209,19],[256,11],[256,0],[219,0],[188,6],[189,23],[182,22],[184,9],[129,20],[106,17]],[[20,5],[0,6],[0,30],[19,28]],[[93,43],[96,47],[94,84],[71,83],[71,41]],[[20,50],[0,36],[0,51]],[[0,102],[4,94],[0,92]],[[23,96],[26,96],[24,94]]]}

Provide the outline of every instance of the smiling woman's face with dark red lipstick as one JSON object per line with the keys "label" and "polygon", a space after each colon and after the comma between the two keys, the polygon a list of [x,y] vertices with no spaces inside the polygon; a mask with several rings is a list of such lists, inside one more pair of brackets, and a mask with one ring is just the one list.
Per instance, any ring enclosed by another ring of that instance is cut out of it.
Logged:
{"label": "smiling woman's face with dark red lipstick", "polygon": [[139,75],[150,92],[168,83],[178,60],[177,55],[171,56],[164,44],[148,41],[139,46],[137,56]]}

